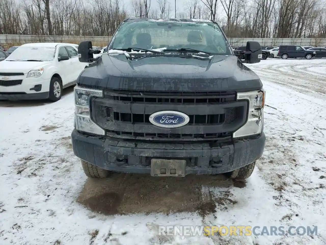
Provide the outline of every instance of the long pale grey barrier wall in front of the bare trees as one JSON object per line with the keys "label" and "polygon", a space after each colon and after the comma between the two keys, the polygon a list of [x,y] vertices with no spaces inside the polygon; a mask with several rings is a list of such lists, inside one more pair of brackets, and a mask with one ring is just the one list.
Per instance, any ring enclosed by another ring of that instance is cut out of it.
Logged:
{"label": "long pale grey barrier wall in front of the bare trees", "polygon": [[[2,45],[20,45],[30,42],[69,42],[79,44],[90,40],[94,46],[106,46],[108,37],[90,36],[33,36],[33,35],[0,35]],[[109,38],[111,40],[111,37]],[[229,38],[231,45],[246,45],[247,41],[258,41],[261,45],[294,44],[302,46],[326,46],[326,38]]]}

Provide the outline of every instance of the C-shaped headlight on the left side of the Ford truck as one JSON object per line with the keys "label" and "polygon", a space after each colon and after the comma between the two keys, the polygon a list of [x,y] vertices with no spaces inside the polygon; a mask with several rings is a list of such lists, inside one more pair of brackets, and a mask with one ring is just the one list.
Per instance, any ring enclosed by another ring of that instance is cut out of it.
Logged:
{"label": "C-shaped headlight on the left side of the Ford truck", "polygon": [[75,125],[79,131],[93,133],[97,135],[105,135],[105,131],[96,125],[90,118],[89,102],[90,97],[103,97],[102,90],[84,89],[79,86],[74,88],[75,99]]}

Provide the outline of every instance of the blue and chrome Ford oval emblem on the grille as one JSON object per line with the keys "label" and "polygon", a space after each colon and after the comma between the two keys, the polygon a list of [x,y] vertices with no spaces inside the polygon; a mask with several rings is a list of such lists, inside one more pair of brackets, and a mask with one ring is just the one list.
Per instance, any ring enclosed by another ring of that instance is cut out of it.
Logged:
{"label": "blue and chrome Ford oval emblem on the grille", "polygon": [[177,128],[189,123],[189,117],[178,111],[159,111],[149,116],[149,121],[162,128]]}

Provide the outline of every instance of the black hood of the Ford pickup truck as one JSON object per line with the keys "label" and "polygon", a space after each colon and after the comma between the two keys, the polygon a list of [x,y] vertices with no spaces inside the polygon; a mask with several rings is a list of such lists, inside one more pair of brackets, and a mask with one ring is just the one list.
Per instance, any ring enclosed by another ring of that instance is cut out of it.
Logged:
{"label": "black hood of the Ford pickup truck", "polygon": [[[132,54],[130,54],[132,55]],[[236,56],[144,57],[103,54],[78,77],[81,87],[137,91],[249,91],[259,90],[259,77]]]}

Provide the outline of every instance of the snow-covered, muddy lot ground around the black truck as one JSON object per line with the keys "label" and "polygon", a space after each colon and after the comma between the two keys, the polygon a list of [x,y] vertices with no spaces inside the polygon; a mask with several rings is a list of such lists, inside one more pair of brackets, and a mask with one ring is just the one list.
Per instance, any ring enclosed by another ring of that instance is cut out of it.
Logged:
{"label": "snow-covered, muddy lot ground around the black truck", "polygon": [[[267,91],[267,139],[244,184],[222,175],[87,179],[71,149],[71,88],[55,103],[1,102],[0,244],[326,244],[326,59],[247,66]],[[158,225],[318,226],[318,235],[169,237]]]}

